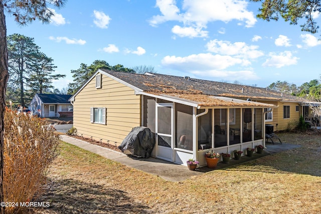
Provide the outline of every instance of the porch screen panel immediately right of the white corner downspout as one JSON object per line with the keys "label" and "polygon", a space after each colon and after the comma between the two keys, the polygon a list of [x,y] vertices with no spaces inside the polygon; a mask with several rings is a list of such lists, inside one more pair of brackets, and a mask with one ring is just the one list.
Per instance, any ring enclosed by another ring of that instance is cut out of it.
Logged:
{"label": "porch screen panel immediately right of the white corner downspout", "polygon": [[[204,109],[197,110],[197,114],[204,112]],[[212,109],[198,118],[198,149],[212,148]]]}

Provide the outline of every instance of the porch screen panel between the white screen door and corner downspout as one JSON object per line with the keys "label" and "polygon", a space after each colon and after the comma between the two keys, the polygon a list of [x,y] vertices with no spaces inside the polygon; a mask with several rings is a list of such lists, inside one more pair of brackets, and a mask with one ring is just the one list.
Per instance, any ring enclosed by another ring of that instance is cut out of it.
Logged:
{"label": "porch screen panel between the white screen door and corner downspout", "polygon": [[193,150],[193,107],[175,104],[176,148]]}

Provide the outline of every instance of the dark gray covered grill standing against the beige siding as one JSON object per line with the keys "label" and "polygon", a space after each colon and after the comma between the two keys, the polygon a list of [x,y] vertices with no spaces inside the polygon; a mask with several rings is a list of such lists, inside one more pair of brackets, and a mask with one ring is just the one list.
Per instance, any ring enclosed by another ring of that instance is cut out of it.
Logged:
{"label": "dark gray covered grill standing against the beige siding", "polygon": [[[129,132],[118,148],[124,152],[148,158],[155,145],[154,134],[144,126],[135,127]],[[126,152],[128,153],[128,152]]]}

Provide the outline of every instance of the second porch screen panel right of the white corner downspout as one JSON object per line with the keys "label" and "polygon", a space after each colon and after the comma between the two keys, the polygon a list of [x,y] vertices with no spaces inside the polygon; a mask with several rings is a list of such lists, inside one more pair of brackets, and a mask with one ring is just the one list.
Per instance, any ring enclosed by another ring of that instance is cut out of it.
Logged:
{"label": "second porch screen panel right of the white corner downspout", "polygon": [[227,145],[227,109],[214,110],[214,147]]}

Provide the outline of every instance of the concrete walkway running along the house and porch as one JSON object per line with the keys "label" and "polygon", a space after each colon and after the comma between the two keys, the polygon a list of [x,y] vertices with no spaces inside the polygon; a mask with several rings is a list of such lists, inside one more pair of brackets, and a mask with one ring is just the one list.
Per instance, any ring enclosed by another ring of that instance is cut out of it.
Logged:
{"label": "concrete walkway running along the house and porch", "polygon": [[[202,175],[205,172],[212,171],[206,166],[197,169],[196,171],[191,171],[187,166],[174,164],[165,160],[149,157],[149,158],[135,158],[129,157],[121,152],[116,152],[114,150],[97,146],[83,140],[79,140],[68,135],[60,135],[61,139],[67,143],[76,145],[82,149],[88,150],[90,152],[99,154],[107,159],[114,160],[116,162],[122,163],[126,166],[133,167],[150,174],[158,175],[166,180],[170,181],[182,181],[189,179],[193,176]],[[216,169],[225,168],[231,165],[246,162],[252,159],[262,157],[264,155],[272,154],[275,152],[284,151],[287,149],[293,149],[300,147],[299,145],[293,144],[268,144],[267,149],[264,150],[263,154],[255,154],[253,157],[243,156],[240,160],[231,159],[228,164],[219,162]]]}

